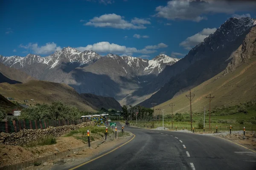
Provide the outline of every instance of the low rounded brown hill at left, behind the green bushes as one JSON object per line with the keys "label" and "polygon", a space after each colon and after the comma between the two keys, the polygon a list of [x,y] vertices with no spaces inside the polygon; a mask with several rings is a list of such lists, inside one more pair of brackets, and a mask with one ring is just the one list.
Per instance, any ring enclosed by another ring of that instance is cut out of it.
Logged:
{"label": "low rounded brown hill at left, behind the green bushes", "polygon": [[[70,86],[54,82],[45,82],[31,80],[23,84],[10,85],[8,83],[0,83],[0,94],[13,97],[18,102],[29,100],[28,104],[35,103],[51,103],[61,100],[70,105],[76,105],[84,111],[95,111],[96,107],[91,105]],[[34,99],[32,102],[30,99]]]}

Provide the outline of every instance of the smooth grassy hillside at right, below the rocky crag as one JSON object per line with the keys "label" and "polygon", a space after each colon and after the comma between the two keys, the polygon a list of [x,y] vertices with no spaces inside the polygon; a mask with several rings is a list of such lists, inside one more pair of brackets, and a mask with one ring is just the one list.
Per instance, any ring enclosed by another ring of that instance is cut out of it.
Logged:
{"label": "smooth grassy hillside at right, below the rocky crag", "polygon": [[[209,94],[215,96],[211,101],[211,108],[222,105],[234,106],[256,97],[256,57],[241,65],[233,73],[225,76],[222,74],[223,72],[191,89],[192,94],[195,94],[192,100],[193,112],[203,111],[204,106],[208,110],[209,99],[206,99],[206,96]],[[165,114],[169,114],[171,113],[169,105],[173,103],[175,113],[190,113],[190,103],[186,94],[189,94],[189,91],[181,91],[173,99],[157,105],[155,108],[164,109]]]}

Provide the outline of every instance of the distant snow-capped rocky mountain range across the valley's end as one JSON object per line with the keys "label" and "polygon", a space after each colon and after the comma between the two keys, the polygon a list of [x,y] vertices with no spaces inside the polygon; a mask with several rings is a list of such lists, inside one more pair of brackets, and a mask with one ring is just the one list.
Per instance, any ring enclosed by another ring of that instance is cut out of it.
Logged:
{"label": "distant snow-capped rocky mountain range across the valley's end", "polygon": [[166,65],[178,60],[164,54],[151,60],[116,54],[100,56],[94,51],[81,52],[71,47],[55,51],[47,57],[34,54],[26,57],[0,56],[0,62],[6,66],[20,69],[36,79],[65,83],[79,93],[118,100],[148,84]]}

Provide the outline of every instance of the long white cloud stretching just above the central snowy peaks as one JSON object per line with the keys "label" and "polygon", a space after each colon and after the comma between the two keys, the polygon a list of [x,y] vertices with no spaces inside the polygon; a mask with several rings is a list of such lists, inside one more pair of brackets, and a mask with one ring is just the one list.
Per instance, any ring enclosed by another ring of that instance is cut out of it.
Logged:
{"label": "long white cloud stretching just above the central snowy peaks", "polygon": [[93,50],[97,53],[114,53],[114,54],[128,54],[132,55],[133,53],[140,53],[140,54],[152,54],[157,52],[154,49],[157,48],[165,48],[167,45],[160,43],[158,45],[151,45],[151,47],[146,46],[143,49],[137,49],[135,47],[126,47],[124,45],[118,45],[109,42],[97,42],[93,45],[87,45],[86,47],[77,47],[76,49],[79,51],[84,50]]}

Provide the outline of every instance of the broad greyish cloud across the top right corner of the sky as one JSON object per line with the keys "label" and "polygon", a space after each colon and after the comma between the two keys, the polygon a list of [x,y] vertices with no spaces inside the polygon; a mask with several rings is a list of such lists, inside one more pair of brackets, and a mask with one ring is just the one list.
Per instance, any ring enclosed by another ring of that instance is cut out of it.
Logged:
{"label": "broad greyish cloud across the top right corner of the sky", "polygon": [[236,11],[255,11],[253,1],[231,0],[172,0],[166,6],[158,6],[154,17],[168,20],[207,20],[206,14],[234,14]]}

